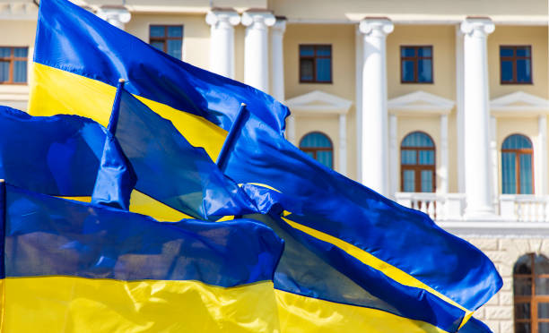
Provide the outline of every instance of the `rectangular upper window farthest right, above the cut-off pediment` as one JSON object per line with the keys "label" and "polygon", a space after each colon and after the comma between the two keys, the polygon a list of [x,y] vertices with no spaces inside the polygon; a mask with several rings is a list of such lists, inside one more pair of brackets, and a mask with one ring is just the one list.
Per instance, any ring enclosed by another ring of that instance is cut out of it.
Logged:
{"label": "rectangular upper window farthest right, above the cut-off pediment", "polygon": [[500,47],[501,84],[532,83],[532,47]]}

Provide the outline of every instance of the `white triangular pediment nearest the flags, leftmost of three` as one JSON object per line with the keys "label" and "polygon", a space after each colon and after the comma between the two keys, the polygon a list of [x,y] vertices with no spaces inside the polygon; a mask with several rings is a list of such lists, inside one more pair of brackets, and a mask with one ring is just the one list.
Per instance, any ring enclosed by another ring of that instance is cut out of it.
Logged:
{"label": "white triangular pediment nearest the flags, leftmost of three", "polygon": [[314,90],[287,99],[286,106],[290,107],[293,113],[306,113],[306,114],[346,114],[353,105],[353,102],[328,94],[327,92]]}

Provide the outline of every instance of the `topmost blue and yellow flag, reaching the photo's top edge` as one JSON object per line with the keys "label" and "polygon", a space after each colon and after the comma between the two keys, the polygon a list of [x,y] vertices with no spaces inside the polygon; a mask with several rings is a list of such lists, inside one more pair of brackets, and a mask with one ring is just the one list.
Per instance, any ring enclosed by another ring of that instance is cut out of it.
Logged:
{"label": "topmost blue and yellow flag, reaching the photo's top edge", "polygon": [[241,102],[276,132],[289,114],[266,93],[181,62],[66,0],[40,1],[32,73],[31,115],[83,115],[107,125],[125,79],[128,92],[213,159]]}

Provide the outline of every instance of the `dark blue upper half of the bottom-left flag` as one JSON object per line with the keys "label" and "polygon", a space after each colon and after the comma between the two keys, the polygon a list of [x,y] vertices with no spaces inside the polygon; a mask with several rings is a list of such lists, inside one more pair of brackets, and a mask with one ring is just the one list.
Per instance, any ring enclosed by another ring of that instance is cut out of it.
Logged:
{"label": "dark blue upper half of the bottom-left flag", "polygon": [[240,286],[272,280],[283,251],[283,241],[270,228],[251,220],[158,222],[121,209],[5,187],[1,229],[9,244],[4,252],[7,277],[197,280]]}

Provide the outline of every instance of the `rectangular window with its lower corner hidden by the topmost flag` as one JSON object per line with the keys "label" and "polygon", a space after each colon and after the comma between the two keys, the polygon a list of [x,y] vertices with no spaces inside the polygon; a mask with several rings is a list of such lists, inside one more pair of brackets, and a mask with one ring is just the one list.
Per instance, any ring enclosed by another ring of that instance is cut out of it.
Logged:
{"label": "rectangular window with its lower corner hidden by the topmost flag", "polygon": [[149,43],[174,58],[182,60],[183,26],[152,25],[149,27]]}

